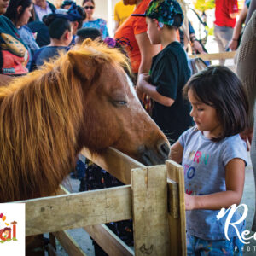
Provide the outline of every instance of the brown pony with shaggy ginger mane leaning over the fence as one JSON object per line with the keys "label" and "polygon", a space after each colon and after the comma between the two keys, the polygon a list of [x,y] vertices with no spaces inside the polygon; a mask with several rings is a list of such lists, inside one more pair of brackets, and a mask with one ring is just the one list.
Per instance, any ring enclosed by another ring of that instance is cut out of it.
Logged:
{"label": "brown pony with shaggy ginger mane leaning over the fence", "polygon": [[87,41],[0,89],[0,202],[51,195],[81,148],[163,163],[168,142],[117,49]]}

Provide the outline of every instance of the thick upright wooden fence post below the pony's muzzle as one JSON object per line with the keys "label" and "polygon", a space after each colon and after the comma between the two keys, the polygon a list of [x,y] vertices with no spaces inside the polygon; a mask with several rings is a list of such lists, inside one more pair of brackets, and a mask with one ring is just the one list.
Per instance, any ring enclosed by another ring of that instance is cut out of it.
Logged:
{"label": "thick upright wooden fence post below the pony's muzzle", "polygon": [[131,170],[134,252],[169,256],[166,166]]}

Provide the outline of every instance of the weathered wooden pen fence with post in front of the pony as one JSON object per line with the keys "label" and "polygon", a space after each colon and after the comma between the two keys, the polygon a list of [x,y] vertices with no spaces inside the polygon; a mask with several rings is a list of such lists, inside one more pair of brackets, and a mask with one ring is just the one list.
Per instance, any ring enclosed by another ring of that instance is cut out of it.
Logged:
{"label": "weathered wooden pen fence with post in front of the pony", "polygon": [[[108,255],[186,255],[183,167],[143,166],[118,150],[86,157],[126,185],[70,194],[61,187],[56,196],[26,202],[26,236],[50,232],[49,254],[55,236],[69,255],[86,255],[65,230],[84,227]],[[133,219],[134,251],[105,225]]]}

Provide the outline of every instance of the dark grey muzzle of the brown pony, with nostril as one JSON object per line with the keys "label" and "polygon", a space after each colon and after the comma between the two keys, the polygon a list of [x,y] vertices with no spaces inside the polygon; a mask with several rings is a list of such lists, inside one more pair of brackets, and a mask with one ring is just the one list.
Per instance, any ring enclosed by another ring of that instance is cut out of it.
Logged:
{"label": "dark grey muzzle of the brown pony, with nostril", "polygon": [[164,164],[170,153],[170,147],[167,143],[159,143],[157,148],[147,148],[145,146],[139,149],[141,161],[145,166],[154,166]]}

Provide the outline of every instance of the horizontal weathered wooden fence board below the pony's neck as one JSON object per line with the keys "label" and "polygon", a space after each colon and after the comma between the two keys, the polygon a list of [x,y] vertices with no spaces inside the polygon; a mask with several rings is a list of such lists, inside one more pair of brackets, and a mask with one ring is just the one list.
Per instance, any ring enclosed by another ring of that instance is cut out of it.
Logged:
{"label": "horizontal weathered wooden fence board below the pony's neck", "polygon": [[32,236],[130,219],[131,185],[22,202],[26,236]]}

